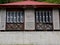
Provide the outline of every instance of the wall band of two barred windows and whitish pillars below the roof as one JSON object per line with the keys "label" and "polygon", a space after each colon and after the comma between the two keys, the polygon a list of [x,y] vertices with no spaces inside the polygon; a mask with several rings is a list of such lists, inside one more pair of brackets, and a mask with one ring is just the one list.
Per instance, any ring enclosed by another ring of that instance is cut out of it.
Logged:
{"label": "wall band of two barred windows and whitish pillars below the roof", "polygon": [[0,13],[0,30],[59,30],[59,9],[2,9]]}

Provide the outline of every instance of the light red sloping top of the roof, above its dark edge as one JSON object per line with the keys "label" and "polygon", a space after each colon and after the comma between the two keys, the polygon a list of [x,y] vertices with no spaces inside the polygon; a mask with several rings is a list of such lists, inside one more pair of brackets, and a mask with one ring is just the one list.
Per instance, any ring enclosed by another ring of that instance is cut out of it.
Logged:
{"label": "light red sloping top of the roof, above its dark edge", "polygon": [[47,2],[37,2],[37,1],[20,1],[20,2],[6,3],[3,5],[56,5],[56,4]]}

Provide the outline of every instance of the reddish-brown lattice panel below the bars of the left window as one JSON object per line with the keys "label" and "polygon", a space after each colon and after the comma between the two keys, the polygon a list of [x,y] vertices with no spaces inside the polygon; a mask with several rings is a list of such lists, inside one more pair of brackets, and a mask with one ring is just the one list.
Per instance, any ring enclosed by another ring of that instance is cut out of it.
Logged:
{"label": "reddish-brown lattice panel below the bars of the left window", "polygon": [[23,30],[24,29],[24,25],[23,24],[10,24],[10,23],[7,23],[6,24],[6,30]]}

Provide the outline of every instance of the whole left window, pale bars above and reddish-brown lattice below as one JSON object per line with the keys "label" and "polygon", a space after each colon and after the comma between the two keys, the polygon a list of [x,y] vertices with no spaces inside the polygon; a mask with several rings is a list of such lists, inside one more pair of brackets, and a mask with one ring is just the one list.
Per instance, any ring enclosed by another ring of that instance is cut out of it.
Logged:
{"label": "whole left window, pale bars above and reddish-brown lattice below", "polygon": [[6,30],[23,30],[24,29],[24,12],[7,11],[6,13]]}

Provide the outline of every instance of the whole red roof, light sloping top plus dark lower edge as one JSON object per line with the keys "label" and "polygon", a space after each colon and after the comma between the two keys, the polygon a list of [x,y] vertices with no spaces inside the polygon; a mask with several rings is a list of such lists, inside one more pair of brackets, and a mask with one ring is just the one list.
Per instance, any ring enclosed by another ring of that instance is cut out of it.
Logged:
{"label": "whole red roof, light sloping top plus dark lower edge", "polygon": [[54,4],[54,3],[48,3],[48,2],[38,2],[38,1],[20,1],[20,2],[11,2],[11,3],[6,3],[6,4],[0,4],[0,7],[16,7],[16,6],[38,6],[38,7],[60,7],[60,4]]}

